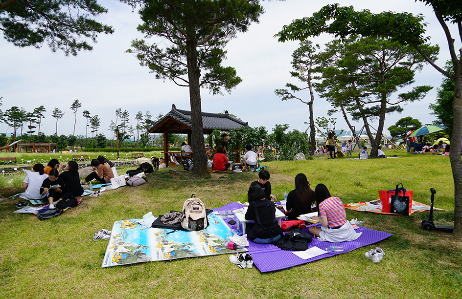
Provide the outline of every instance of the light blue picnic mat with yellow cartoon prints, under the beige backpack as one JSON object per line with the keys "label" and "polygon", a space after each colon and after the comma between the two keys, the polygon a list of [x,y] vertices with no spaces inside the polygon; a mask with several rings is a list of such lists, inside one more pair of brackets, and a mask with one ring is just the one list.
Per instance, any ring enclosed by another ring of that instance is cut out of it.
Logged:
{"label": "light blue picnic mat with yellow cartoon prints, under the beige backpack", "polygon": [[126,219],[114,223],[102,268],[246,251],[224,248],[223,242],[231,229],[218,213],[209,214],[209,226],[199,232],[143,228],[138,220]]}

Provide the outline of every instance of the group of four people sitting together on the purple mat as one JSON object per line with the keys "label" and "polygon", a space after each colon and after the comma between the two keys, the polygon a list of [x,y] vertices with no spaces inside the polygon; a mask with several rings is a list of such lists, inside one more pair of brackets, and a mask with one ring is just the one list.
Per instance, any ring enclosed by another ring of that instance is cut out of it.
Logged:
{"label": "group of four people sitting together on the purple mat", "polygon": [[[247,237],[259,244],[275,243],[282,236],[273,202],[276,201],[276,196],[271,194],[269,172],[260,171],[258,177],[247,193],[249,208],[245,219],[255,222],[247,225]],[[345,208],[340,198],[331,196],[324,184],[318,184],[313,190],[303,173],[295,177],[295,190],[289,192],[286,208],[288,220],[296,220],[302,214],[318,212],[318,216],[311,218],[320,221],[321,228],[311,226],[308,231],[321,241],[340,243],[355,240],[361,235],[346,220]]]}

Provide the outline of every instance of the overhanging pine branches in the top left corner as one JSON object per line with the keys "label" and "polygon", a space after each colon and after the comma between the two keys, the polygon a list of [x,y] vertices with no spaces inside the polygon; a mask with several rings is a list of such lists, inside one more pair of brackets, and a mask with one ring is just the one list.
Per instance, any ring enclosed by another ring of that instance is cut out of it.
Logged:
{"label": "overhanging pine branches in the top left corner", "polygon": [[93,19],[106,12],[88,0],[2,1],[0,31],[16,46],[41,48],[46,42],[53,52],[77,55],[80,50],[92,50],[86,39],[94,43],[98,33],[114,32]]}

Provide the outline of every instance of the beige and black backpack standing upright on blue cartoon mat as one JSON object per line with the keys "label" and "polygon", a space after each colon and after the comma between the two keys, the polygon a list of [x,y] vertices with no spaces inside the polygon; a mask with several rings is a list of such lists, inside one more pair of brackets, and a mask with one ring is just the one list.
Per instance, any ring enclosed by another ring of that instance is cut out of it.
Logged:
{"label": "beige and black backpack standing upright on blue cartoon mat", "polygon": [[181,226],[188,231],[200,231],[208,226],[206,207],[194,194],[183,204]]}

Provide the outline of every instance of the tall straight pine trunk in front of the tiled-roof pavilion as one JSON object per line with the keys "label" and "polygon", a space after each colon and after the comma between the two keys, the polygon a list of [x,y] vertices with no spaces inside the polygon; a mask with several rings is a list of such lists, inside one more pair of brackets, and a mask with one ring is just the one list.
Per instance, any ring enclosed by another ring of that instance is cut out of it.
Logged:
{"label": "tall straight pine trunk in front of the tiled-roof pavilion", "polygon": [[[190,36],[191,37],[191,36]],[[186,41],[187,68],[189,80],[189,102],[191,105],[192,149],[194,167],[192,172],[200,177],[207,174],[207,157],[205,154],[204,131],[202,124],[201,71],[197,65],[197,41]]]}

